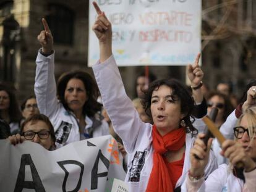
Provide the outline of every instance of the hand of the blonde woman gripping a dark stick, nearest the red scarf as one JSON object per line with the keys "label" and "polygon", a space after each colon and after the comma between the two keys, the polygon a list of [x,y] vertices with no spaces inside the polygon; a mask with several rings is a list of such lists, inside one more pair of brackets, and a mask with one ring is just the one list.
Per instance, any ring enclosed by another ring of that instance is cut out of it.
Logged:
{"label": "hand of the blonde woman gripping a dark stick, nearest the red scarf", "polygon": [[[194,146],[190,150],[190,174],[196,177],[202,176],[204,173],[205,166],[208,162],[211,143],[213,141],[213,139],[210,138],[208,140],[207,146],[205,146],[205,143],[203,143],[202,140],[204,136],[205,134],[203,133],[198,134],[197,140],[195,140]],[[200,159],[197,159],[195,155]]]}

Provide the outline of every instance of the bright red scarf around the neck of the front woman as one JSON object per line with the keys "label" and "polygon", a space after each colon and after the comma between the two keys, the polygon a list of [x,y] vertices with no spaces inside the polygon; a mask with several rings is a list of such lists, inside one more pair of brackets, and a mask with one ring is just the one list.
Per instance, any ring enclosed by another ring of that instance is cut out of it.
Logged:
{"label": "bright red scarf around the neck of the front woman", "polygon": [[147,192],[172,192],[174,191],[172,180],[169,175],[163,154],[167,151],[177,151],[182,148],[186,140],[186,128],[178,128],[163,137],[159,134],[156,126],[153,125],[153,169],[148,180]]}

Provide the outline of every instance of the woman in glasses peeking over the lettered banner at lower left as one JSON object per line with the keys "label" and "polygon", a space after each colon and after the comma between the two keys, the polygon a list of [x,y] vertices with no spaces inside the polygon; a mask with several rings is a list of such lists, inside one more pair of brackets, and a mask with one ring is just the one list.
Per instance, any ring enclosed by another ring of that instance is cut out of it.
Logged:
{"label": "woman in glasses peeking over the lettered banner at lower left", "polygon": [[50,151],[55,149],[55,135],[53,125],[48,117],[43,114],[35,114],[28,117],[20,128],[20,134],[9,136],[12,144],[22,143],[23,141],[32,141],[43,146]]}

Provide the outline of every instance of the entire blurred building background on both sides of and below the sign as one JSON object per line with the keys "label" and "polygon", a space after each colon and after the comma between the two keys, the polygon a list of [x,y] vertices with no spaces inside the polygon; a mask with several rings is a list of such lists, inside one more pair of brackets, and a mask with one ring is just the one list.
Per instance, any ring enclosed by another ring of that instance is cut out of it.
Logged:
{"label": "entire blurred building background on both sides of and below the sign", "polygon": [[[256,1],[203,0],[202,49],[204,82],[215,88],[229,81],[240,94],[256,77]],[[19,98],[33,93],[35,59],[45,17],[54,35],[56,78],[87,67],[88,0],[0,0],[0,81],[12,81]],[[130,97],[143,67],[120,67]],[[186,67],[150,67],[158,78],[186,79]]]}

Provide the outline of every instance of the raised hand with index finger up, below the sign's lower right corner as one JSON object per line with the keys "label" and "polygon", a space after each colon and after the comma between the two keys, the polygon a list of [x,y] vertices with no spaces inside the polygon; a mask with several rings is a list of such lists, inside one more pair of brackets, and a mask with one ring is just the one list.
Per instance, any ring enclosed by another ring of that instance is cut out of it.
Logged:
{"label": "raised hand with index finger up, below the sign's lower right corner", "polygon": [[189,80],[193,87],[198,86],[200,84],[200,81],[202,81],[203,79],[203,71],[198,65],[200,56],[201,54],[198,53],[194,64],[189,64],[187,68],[187,76],[189,77]]}

